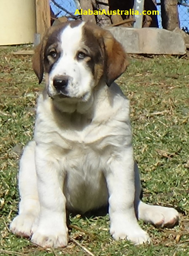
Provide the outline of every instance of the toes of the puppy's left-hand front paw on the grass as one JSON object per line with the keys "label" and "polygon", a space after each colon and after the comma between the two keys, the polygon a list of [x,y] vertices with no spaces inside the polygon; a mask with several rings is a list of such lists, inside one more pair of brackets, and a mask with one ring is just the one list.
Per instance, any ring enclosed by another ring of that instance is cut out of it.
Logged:
{"label": "toes of the puppy's left-hand front paw on the grass", "polygon": [[43,248],[49,247],[66,247],[68,245],[67,234],[42,234],[35,232],[31,238],[32,243],[35,243]]}

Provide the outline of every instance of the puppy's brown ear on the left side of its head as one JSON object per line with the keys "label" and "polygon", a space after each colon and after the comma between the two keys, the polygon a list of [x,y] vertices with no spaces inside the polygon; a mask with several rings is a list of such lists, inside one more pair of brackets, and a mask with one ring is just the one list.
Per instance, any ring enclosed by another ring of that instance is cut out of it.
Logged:
{"label": "puppy's brown ear on the left side of its head", "polygon": [[41,43],[36,47],[34,51],[32,67],[39,79],[39,84],[42,82],[43,73],[44,73],[44,47],[43,47],[43,40]]}

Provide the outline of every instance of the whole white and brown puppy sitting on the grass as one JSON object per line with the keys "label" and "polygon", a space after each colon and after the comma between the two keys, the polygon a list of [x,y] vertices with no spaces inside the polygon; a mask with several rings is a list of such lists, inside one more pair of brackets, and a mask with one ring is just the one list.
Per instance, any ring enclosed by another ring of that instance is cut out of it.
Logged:
{"label": "whole white and brown puppy sitting on the grass", "polygon": [[85,213],[107,204],[116,240],[149,241],[137,218],[176,224],[176,210],[139,199],[129,100],[113,83],[126,66],[122,46],[100,27],[73,21],[47,31],[34,54],[39,83],[44,72],[46,82],[34,140],[21,157],[13,233],[43,247],[64,247],[66,209]]}

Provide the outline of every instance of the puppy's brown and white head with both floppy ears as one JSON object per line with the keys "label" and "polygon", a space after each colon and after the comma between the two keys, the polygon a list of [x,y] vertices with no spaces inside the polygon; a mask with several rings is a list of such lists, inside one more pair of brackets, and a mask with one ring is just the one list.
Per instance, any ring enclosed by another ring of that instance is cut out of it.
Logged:
{"label": "puppy's brown and white head with both floppy ears", "polygon": [[81,21],[51,27],[33,57],[39,83],[46,73],[50,97],[80,101],[89,100],[100,81],[110,86],[127,65],[123,47],[110,32]]}

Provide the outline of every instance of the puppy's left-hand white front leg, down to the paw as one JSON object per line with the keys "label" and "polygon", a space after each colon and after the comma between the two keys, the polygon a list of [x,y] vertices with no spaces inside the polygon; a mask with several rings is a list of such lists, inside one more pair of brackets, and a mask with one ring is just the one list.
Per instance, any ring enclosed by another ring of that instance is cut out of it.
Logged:
{"label": "puppy's left-hand white front leg, down to the paw", "polygon": [[40,215],[31,241],[42,247],[65,247],[68,244],[66,198],[63,194],[64,174],[55,156],[36,146],[37,187]]}

